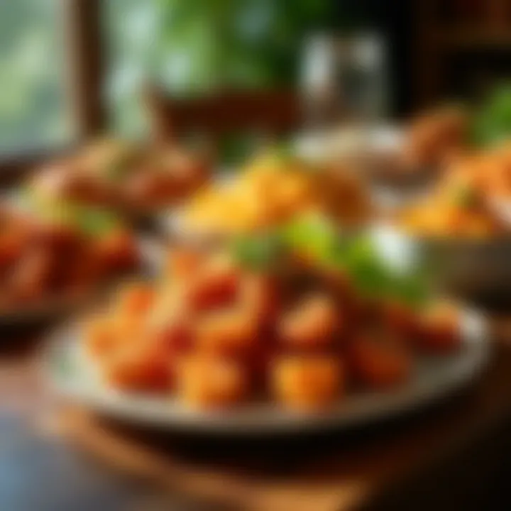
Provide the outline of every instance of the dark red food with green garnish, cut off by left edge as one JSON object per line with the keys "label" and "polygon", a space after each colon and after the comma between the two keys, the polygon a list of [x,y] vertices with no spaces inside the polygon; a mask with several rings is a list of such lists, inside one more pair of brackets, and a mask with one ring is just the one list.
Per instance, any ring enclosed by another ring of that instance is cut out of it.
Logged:
{"label": "dark red food with green garnish, cut off by left edge", "polygon": [[97,298],[132,273],[154,273],[158,243],[138,238],[115,216],[71,204],[1,212],[0,324],[33,324]]}

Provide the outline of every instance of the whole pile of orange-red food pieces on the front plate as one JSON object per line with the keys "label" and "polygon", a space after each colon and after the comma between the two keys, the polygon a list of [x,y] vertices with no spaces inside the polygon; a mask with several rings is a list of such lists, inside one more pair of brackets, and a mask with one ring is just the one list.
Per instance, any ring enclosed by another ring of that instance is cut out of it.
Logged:
{"label": "whole pile of orange-red food pieces on the front plate", "polygon": [[131,283],[84,330],[114,388],[171,395],[198,409],[265,397],[292,410],[340,402],[352,385],[406,383],[417,352],[459,346],[456,311],[419,314],[359,294],[346,273],[294,254],[255,270],[229,251],[170,257],[158,285]]}

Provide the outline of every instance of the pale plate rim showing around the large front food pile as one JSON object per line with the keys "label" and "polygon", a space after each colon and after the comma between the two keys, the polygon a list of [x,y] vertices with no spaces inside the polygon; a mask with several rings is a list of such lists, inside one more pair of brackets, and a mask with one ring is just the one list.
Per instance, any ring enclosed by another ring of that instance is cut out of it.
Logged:
{"label": "pale plate rim showing around the large front food pile", "polygon": [[76,325],[55,336],[45,358],[45,369],[53,388],[65,397],[101,414],[145,427],[242,435],[321,431],[390,417],[426,405],[470,383],[488,358],[483,318],[474,312],[464,312],[461,332],[463,342],[458,352],[422,358],[412,379],[402,388],[348,395],[322,414],[293,414],[269,403],[249,404],[230,411],[198,412],[172,397],[131,395],[107,388],[81,349]]}

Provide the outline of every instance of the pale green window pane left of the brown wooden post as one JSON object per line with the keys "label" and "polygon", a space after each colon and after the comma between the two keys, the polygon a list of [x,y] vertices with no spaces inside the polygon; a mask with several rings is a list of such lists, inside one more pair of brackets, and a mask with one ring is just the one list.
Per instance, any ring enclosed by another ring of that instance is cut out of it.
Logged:
{"label": "pale green window pane left of the brown wooden post", "polygon": [[60,0],[0,1],[0,155],[70,140]]}

